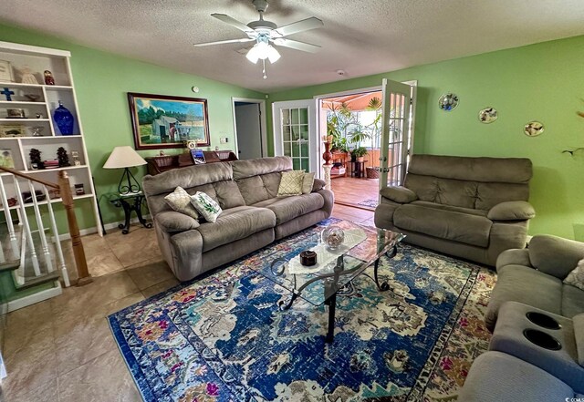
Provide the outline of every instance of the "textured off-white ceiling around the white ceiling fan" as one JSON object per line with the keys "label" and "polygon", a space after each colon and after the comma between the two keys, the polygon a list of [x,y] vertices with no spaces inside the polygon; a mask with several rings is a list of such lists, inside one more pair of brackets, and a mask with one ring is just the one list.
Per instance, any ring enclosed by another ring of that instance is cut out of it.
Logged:
{"label": "textured off-white ceiling around the white ceiling fan", "polygon": [[267,79],[259,63],[237,52],[246,44],[192,46],[245,37],[210,15],[227,14],[247,24],[257,19],[251,0],[2,0],[0,20],[261,92],[584,34],[584,0],[269,3],[266,19],[278,26],[308,16],[325,26],[288,36],[322,49],[309,54],[278,47],[282,58],[267,65]]}

